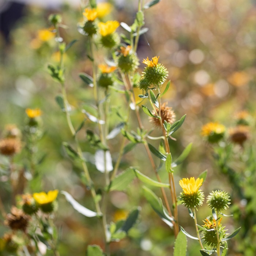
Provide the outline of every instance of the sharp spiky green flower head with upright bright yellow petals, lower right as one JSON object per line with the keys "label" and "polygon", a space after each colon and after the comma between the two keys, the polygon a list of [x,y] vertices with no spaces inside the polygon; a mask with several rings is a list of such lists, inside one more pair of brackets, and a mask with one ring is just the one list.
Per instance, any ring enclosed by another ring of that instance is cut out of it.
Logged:
{"label": "sharp spiky green flower head with upright bright yellow petals, lower right", "polygon": [[180,199],[182,204],[189,209],[194,209],[195,207],[201,206],[204,201],[204,194],[201,189],[199,189],[203,184],[203,178],[194,177],[183,178],[179,182],[183,191],[180,193]]}

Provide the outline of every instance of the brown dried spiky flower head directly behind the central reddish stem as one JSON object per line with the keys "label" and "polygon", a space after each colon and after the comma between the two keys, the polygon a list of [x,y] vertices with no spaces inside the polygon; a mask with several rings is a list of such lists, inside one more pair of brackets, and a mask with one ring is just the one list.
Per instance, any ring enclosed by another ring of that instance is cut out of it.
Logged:
{"label": "brown dried spiky flower head directly behind the central reddish stem", "polygon": [[[158,116],[159,114],[159,109],[155,109],[157,113],[153,112],[155,116]],[[176,114],[172,110],[172,107],[167,107],[166,102],[162,104],[161,106],[161,118],[162,122],[166,121],[167,123],[173,124],[175,119],[176,119]],[[157,127],[161,127],[160,120],[156,117],[150,117],[150,122],[153,123]]]}

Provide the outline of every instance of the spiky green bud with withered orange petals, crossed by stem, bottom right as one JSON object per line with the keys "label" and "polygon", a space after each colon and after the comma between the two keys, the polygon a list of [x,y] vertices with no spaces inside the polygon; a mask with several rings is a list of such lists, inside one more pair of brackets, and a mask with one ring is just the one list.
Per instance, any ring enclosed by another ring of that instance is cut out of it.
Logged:
{"label": "spiky green bud with withered orange petals, crossed by stem, bottom right", "polygon": [[[221,241],[223,238],[227,237],[227,233],[225,230],[225,227],[226,226],[223,226],[221,224],[221,220],[222,218],[218,221],[218,233],[219,233],[219,241]],[[208,246],[211,246],[212,248],[214,247],[217,247],[218,245],[218,240],[217,240],[217,233],[216,233],[216,225],[217,225],[217,222],[216,220],[210,216],[210,217],[207,217],[205,219],[204,222],[204,230],[202,230],[201,234],[202,234],[202,239],[203,241],[208,245]],[[220,245],[223,246],[225,245],[225,241],[223,242],[220,242]]]}

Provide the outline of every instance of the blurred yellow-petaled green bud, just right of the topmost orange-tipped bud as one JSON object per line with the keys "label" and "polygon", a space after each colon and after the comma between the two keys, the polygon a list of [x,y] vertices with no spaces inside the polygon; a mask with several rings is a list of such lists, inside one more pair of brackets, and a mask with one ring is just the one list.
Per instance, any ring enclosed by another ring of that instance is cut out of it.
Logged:
{"label": "blurred yellow-petaled green bud, just right of the topmost orange-tipped bud", "polygon": [[108,20],[99,22],[99,33],[101,34],[100,42],[106,48],[114,48],[120,43],[120,37],[115,32],[120,23],[117,20]]}

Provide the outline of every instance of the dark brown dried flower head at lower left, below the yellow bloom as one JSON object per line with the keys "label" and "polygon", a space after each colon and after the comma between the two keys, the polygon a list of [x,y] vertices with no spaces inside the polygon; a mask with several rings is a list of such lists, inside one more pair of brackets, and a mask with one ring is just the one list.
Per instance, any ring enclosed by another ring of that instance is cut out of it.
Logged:
{"label": "dark brown dried flower head at lower left, below the yellow bloom", "polygon": [[25,214],[22,210],[12,206],[11,213],[6,215],[5,225],[9,226],[12,230],[25,231],[29,223],[29,215]]}

